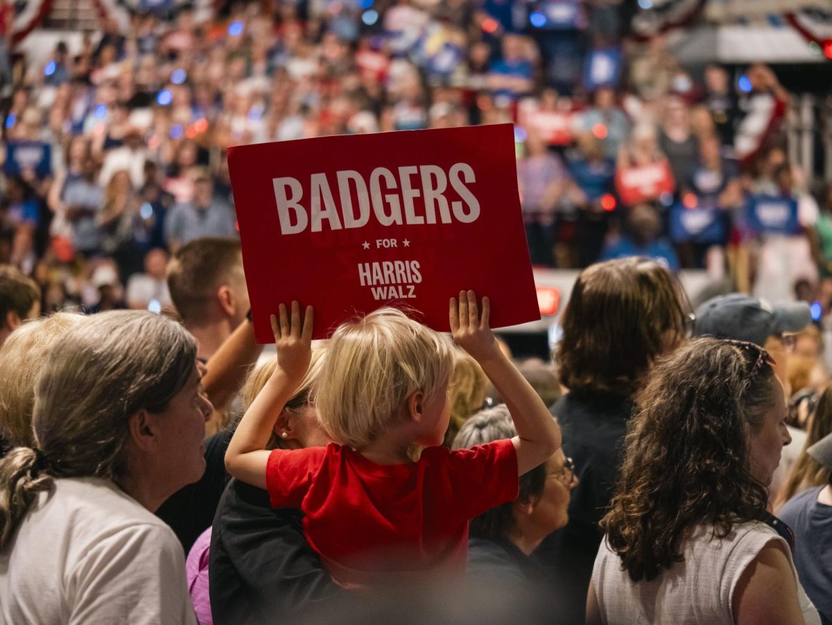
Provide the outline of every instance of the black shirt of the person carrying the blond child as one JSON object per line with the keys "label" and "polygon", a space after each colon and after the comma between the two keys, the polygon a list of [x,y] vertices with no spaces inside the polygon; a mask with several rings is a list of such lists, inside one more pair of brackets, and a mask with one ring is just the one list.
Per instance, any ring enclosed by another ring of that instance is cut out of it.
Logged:
{"label": "black shirt of the person carrying the blond child", "polygon": [[339,595],[306,542],[302,518],[298,510],[272,508],[265,490],[230,481],[210,539],[214,623],[291,623],[301,610]]}

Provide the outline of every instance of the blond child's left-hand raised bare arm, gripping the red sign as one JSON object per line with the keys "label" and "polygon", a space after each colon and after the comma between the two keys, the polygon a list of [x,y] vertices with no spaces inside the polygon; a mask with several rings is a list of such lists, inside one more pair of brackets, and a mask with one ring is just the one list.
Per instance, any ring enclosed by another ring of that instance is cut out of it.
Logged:
{"label": "blond child's left-hand raised bare arm, gripping the red sign", "polygon": [[268,444],[275,419],[295,393],[309,369],[312,356],[312,306],[306,307],[303,327],[300,305],[292,302],[291,319],[280,305],[280,319],[271,315],[275,333],[277,368],[245,411],[225,452],[225,469],[246,484],[265,489],[265,469],[269,461]]}

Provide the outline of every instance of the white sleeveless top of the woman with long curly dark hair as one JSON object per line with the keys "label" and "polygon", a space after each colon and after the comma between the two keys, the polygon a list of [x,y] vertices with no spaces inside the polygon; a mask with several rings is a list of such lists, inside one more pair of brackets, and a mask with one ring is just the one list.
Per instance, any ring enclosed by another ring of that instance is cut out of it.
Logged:
{"label": "white sleeveless top of the woman with long curly dark hair", "polygon": [[806,625],[820,625],[820,616],[797,581],[788,544],[765,523],[735,525],[726,538],[711,538],[712,528],[696,528],[685,541],[684,560],[650,582],[633,582],[618,554],[602,541],[592,570],[592,584],[604,623],[674,623],[734,625],[736,583],[751,561],[771,540],[780,541],[795,573],[797,595]]}

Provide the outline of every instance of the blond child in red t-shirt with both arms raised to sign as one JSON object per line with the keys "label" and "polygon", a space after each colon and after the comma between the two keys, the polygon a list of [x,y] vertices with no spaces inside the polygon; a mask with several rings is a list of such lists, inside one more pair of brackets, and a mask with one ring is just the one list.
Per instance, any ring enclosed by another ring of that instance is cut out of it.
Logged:
{"label": "blond child in red t-shirt with both arms raised to sign", "polygon": [[[560,446],[560,430],[499,350],[473,291],[450,301],[453,338],[505,399],[518,436],[450,451],[448,381],[453,347],[443,335],[384,308],[341,325],[324,357],[315,402],[336,441],[266,451],[287,399],[310,362],[312,309],[280,305],[271,318],[278,366],[246,411],[225,465],[266,489],[275,508],[300,508],[310,545],[333,578],[362,588],[419,571],[465,565],[468,520],[518,494],[518,476]],[[282,433],[281,433],[282,434]]]}

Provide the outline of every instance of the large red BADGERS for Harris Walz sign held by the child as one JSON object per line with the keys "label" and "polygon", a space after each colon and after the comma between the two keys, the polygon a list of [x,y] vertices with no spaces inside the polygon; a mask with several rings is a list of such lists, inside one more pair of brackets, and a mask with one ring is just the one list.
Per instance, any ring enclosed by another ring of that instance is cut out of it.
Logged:
{"label": "large red BADGERS for Harris Walz sign held by the child", "polygon": [[511,124],[235,146],[228,165],[259,343],[291,300],[314,338],[391,302],[448,331],[463,289],[493,328],[540,319]]}

